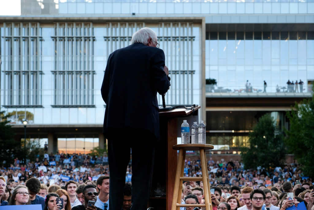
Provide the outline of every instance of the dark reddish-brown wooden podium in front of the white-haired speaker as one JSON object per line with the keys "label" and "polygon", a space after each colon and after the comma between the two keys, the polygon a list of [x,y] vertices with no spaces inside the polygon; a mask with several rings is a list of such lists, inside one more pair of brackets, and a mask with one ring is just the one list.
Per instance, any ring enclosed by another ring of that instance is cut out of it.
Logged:
{"label": "dark reddish-brown wooden podium in front of the white-haired speaker", "polygon": [[198,122],[200,106],[161,111],[160,142],[156,145],[155,163],[152,188],[148,207],[154,209],[171,209],[172,196],[176,177],[177,151],[172,149],[177,144],[177,137],[181,137],[181,124],[187,120],[190,127],[193,121]]}

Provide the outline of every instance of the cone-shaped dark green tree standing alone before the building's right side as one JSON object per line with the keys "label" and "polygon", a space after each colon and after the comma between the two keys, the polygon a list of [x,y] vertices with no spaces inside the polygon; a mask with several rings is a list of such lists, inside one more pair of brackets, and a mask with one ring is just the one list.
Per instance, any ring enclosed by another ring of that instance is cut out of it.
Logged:
{"label": "cone-shaped dark green tree standing alone before the building's right side", "polygon": [[241,148],[245,169],[276,167],[284,162],[286,149],[283,134],[270,114],[263,115],[249,133],[250,147]]}

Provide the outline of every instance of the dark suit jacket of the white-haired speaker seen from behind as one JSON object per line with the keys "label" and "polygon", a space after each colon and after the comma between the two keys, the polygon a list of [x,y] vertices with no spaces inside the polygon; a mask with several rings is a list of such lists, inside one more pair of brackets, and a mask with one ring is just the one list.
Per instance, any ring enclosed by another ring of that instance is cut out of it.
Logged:
{"label": "dark suit jacket of the white-haired speaker seen from behind", "polygon": [[101,86],[105,137],[111,128],[128,127],[149,130],[160,139],[157,92],[165,94],[170,85],[164,66],[164,51],[142,43],[110,54]]}

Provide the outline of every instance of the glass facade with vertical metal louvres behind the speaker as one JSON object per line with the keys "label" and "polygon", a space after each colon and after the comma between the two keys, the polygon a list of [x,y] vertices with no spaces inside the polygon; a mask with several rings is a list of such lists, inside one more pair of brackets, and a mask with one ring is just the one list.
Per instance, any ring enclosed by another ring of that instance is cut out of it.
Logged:
{"label": "glass facade with vertical metal louvres behind the speaker", "polygon": [[165,52],[171,77],[167,105],[201,104],[200,24],[8,22],[0,28],[1,105],[14,114],[12,123],[102,124],[107,58],[142,27],[156,31]]}

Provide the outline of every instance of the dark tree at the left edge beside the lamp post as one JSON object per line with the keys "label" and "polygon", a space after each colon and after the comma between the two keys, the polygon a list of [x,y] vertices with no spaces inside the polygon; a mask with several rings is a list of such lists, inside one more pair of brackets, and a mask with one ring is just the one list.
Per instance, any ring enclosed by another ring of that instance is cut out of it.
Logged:
{"label": "dark tree at the left edge beside the lamp post", "polygon": [[14,140],[15,134],[7,120],[10,115],[1,111],[0,116],[0,166],[10,166],[16,157],[22,160],[24,152],[21,150],[20,142]]}

